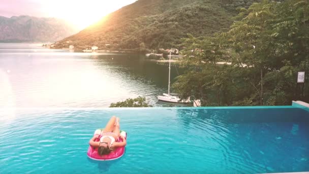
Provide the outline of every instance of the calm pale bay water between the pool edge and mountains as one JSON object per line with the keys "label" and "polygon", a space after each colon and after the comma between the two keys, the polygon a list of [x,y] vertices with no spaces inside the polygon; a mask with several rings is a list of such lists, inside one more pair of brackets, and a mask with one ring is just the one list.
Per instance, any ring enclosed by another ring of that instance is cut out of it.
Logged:
{"label": "calm pale bay water between the pool edge and mountains", "polygon": [[[0,43],[0,107],[108,107],[167,93],[168,66],[136,53],[80,53]],[[171,79],[181,70],[172,68]]]}

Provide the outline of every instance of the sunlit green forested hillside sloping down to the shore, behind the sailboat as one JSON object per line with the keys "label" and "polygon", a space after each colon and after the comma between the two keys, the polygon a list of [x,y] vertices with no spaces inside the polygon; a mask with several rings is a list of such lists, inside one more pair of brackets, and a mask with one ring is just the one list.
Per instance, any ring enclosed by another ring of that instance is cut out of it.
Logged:
{"label": "sunlit green forested hillside sloping down to the shore, behind the sailboat", "polygon": [[139,0],[83,31],[56,42],[57,48],[159,49],[179,48],[188,34],[205,36],[227,28],[236,8],[255,0]]}

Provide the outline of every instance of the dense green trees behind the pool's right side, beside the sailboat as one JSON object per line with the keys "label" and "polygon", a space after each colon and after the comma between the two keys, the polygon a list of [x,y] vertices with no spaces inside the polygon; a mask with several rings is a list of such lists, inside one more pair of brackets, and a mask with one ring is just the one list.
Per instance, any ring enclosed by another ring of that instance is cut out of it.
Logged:
{"label": "dense green trees behind the pool's right side, beside the sailboat", "polygon": [[[309,102],[308,2],[263,1],[241,9],[230,29],[209,37],[183,39],[186,66],[198,67],[177,78],[182,98],[203,105],[286,105]],[[229,64],[220,65],[220,62]]]}

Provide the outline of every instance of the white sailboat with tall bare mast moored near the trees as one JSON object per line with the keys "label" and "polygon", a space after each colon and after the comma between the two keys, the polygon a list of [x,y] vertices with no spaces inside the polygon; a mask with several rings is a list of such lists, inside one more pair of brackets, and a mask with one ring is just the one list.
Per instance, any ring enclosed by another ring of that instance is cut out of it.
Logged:
{"label": "white sailboat with tall bare mast moored near the trees", "polygon": [[158,100],[165,101],[165,102],[172,102],[172,103],[190,103],[190,98],[187,100],[181,100],[177,97],[177,94],[170,93],[170,84],[171,84],[171,56],[172,52],[170,51],[170,60],[169,60],[169,72],[168,72],[168,94],[163,93],[162,96],[158,96]]}

